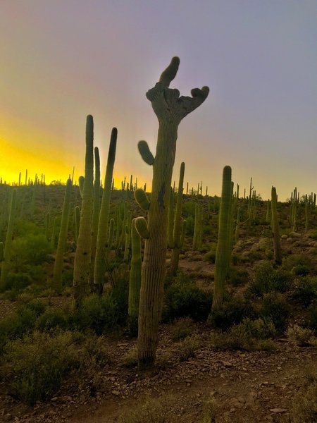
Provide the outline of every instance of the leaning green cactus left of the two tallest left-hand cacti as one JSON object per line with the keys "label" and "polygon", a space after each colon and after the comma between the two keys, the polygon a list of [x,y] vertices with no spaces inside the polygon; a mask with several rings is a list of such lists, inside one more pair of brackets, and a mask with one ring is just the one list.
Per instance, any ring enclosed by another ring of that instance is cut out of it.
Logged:
{"label": "leaning green cactus left of the two tallest left-hand cacti", "polygon": [[68,216],[70,208],[70,192],[72,188],[72,180],[68,179],[66,183],[63,213],[61,218],[61,228],[59,229],[58,244],[56,250],[56,257],[54,263],[53,272],[53,283],[52,288],[56,293],[61,293],[62,288],[62,271],[63,271],[63,259],[64,251],[66,246],[67,234],[68,234]]}

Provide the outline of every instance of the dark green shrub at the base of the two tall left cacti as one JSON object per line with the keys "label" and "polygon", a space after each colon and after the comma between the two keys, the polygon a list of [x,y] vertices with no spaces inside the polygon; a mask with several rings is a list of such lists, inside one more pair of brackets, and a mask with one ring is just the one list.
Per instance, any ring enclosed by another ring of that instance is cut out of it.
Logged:
{"label": "dark green shrub at the base of the two tall left cacti", "polygon": [[101,297],[93,294],[84,298],[81,307],[70,317],[70,324],[73,329],[91,329],[100,335],[106,329],[113,328],[117,320],[116,302],[111,294],[106,292]]}

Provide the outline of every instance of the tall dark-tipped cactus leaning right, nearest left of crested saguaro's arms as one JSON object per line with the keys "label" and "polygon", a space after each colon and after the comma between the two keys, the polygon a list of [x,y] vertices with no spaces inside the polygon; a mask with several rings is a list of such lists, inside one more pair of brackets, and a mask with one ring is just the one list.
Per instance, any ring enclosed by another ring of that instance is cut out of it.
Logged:
{"label": "tall dark-tipped cactus leaning right, nearest left of crested saguaro's arms", "polygon": [[94,290],[102,294],[106,273],[106,249],[108,243],[108,220],[111,199],[111,185],[113,178],[113,166],[116,158],[117,128],[111,131],[106,174],[104,177],[104,192],[102,193],[101,208],[99,214],[96,258],[94,259]]}

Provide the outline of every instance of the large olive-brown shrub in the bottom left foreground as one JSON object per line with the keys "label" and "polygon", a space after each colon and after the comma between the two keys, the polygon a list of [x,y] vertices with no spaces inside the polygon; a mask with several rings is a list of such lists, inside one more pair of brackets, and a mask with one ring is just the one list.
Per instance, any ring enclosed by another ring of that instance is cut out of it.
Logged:
{"label": "large olive-brown shrub in the bottom left foreground", "polygon": [[66,374],[77,365],[70,332],[55,336],[35,331],[6,345],[2,368],[9,393],[34,405],[50,398]]}

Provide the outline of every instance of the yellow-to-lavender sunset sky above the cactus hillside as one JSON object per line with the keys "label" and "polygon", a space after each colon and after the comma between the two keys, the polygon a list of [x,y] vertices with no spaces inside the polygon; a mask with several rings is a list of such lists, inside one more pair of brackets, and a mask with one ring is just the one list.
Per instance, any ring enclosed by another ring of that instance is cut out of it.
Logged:
{"label": "yellow-to-lavender sunset sky above the cactus hillside", "polygon": [[[137,142],[156,148],[145,97],[173,56],[170,87],[209,97],[178,130],[173,180],[220,195],[223,167],[264,200],[274,185],[317,191],[316,0],[0,0],[0,176],[84,173],[85,122],[104,175],[118,128],[114,178],[151,185]],[[102,176],[104,178],[104,176]]]}

